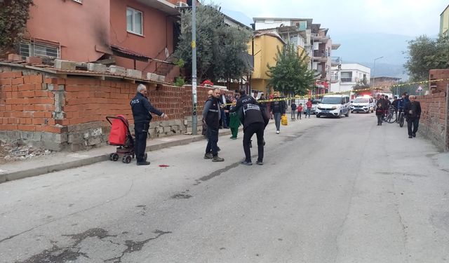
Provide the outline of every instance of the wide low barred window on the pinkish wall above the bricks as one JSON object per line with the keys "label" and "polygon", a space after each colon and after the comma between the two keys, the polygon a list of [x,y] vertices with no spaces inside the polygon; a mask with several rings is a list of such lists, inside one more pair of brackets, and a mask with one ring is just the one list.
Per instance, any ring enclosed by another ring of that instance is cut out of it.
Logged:
{"label": "wide low barred window on the pinkish wall above the bricks", "polygon": [[60,47],[39,41],[22,41],[19,54],[22,57],[60,58]]}

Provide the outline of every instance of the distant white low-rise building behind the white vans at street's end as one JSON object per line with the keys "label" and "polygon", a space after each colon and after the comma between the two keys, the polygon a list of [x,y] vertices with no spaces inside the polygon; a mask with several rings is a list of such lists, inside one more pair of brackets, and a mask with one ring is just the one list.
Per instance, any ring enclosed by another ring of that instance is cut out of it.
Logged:
{"label": "distant white low-rise building behind the white vans at street's end", "polygon": [[370,84],[371,69],[358,63],[340,64],[340,58],[333,60],[330,92],[339,93],[352,90],[357,84]]}

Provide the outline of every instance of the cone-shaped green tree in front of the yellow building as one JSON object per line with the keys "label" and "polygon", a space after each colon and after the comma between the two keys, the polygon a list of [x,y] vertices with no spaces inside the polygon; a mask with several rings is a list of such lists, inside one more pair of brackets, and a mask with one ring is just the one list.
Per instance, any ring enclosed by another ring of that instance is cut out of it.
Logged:
{"label": "cone-shaped green tree in front of the yellow building", "polygon": [[267,65],[269,86],[288,95],[306,95],[314,85],[314,71],[308,69],[308,58],[304,50],[301,54],[293,44],[288,43],[282,50],[278,47],[276,65]]}

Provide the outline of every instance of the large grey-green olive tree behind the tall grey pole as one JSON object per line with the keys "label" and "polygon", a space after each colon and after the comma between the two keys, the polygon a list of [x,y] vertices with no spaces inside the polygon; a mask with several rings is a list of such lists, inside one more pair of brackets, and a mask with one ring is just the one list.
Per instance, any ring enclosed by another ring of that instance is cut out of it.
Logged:
{"label": "large grey-green olive tree behind the tall grey pole", "polygon": [[[180,41],[174,57],[185,61],[185,69],[192,72],[192,11],[181,13]],[[199,82],[203,79],[239,79],[249,72],[243,60],[250,32],[225,24],[220,7],[201,5],[196,12],[196,68]]]}

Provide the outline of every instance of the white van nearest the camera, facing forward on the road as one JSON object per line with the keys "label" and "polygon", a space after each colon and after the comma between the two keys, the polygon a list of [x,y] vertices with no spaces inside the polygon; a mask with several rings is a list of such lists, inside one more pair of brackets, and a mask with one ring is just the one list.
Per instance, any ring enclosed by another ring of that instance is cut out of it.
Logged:
{"label": "white van nearest the camera, facing forward on the road", "polygon": [[350,111],[349,95],[324,95],[323,100],[316,107],[316,117],[330,116],[341,118],[343,114],[349,117]]}

